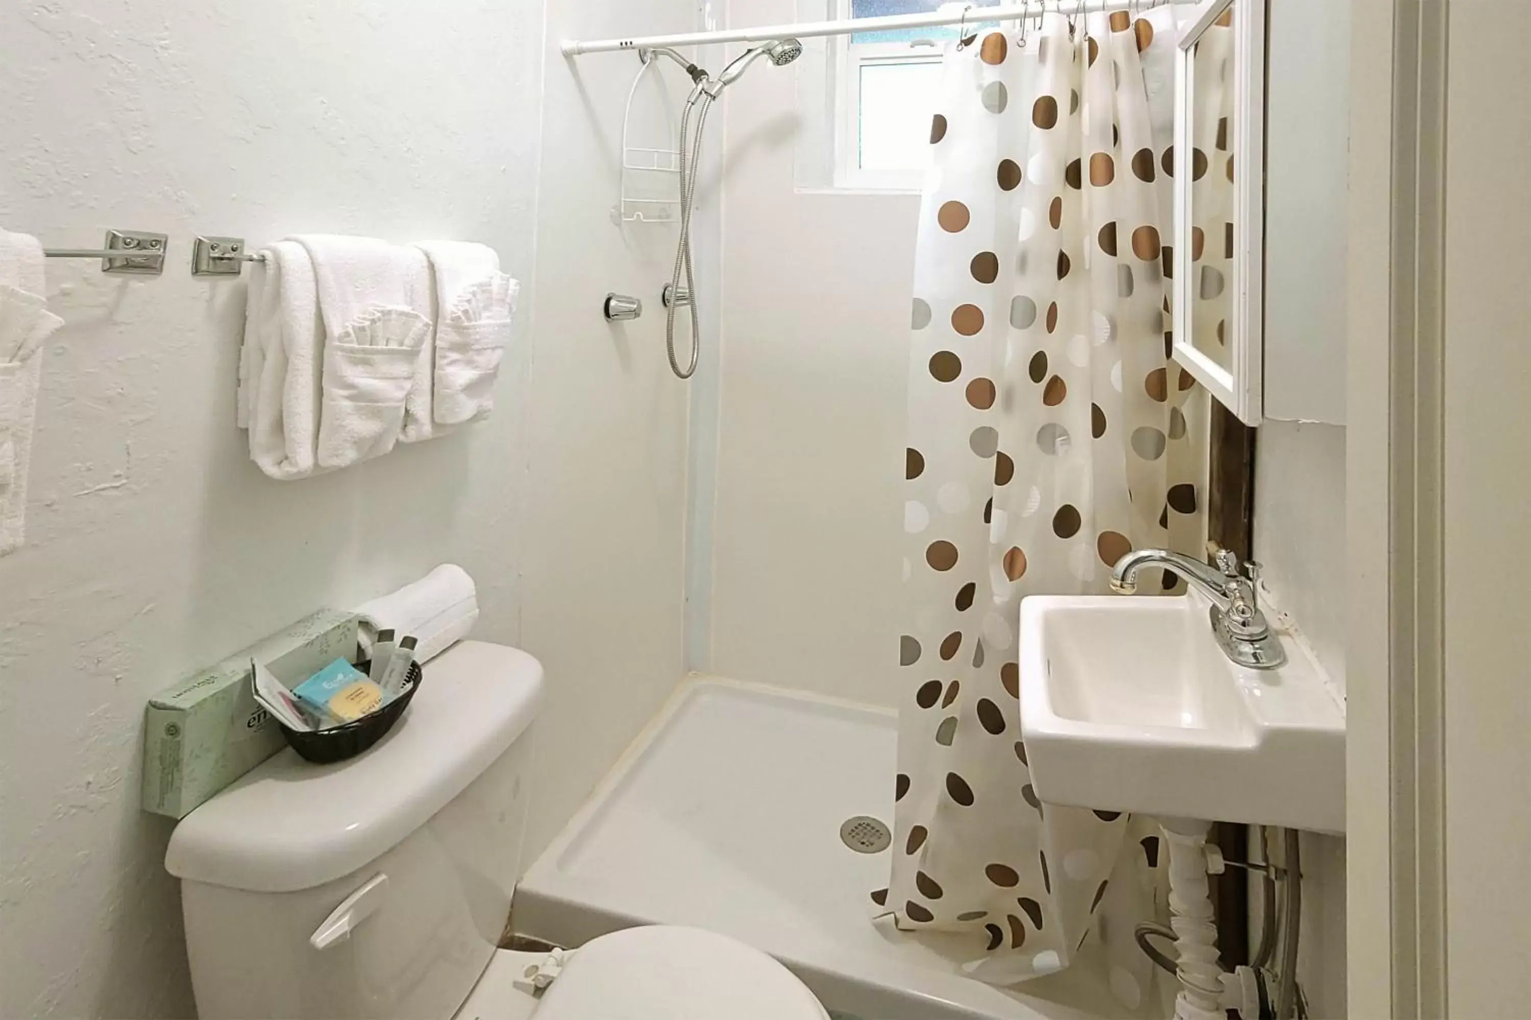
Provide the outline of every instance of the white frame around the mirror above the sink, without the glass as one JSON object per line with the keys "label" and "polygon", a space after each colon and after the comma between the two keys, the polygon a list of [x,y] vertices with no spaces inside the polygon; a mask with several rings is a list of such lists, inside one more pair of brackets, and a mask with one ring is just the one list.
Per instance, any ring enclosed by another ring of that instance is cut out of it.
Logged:
{"label": "white frame around the mirror above the sink, without the glass", "polygon": [[[1194,346],[1191,315],[1191,112],[1196,43],[1234,11],[1232,372]],[[1243,168],[1243,173],[1237,173]],[[1254,173],[1251,173],[1254,170]],[[1265,370],[1265,0],[1206,0],[1174,55],[1174,359],[1246,425],[1263,414]]]}

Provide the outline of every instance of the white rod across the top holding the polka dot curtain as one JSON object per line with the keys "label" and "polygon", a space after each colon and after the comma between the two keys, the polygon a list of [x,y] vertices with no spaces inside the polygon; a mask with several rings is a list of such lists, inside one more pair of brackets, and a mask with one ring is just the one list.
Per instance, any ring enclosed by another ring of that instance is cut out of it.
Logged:
{"label": "white rod across the top holding the polka dot curtain", "polygon": [[[966,6],[960,11],[937,11],[935,14],[890,14],[880,18],[842,18],[839,21],[802,21],[799,24],[762,24],[749,29],[723,29],[718,32],[684,32],[680,35],[643,35],[631,38],[568,40],[565,57],[580,54],[612,54],[629,49],[652,49],[655,46],[706,46],[709,43],[767,43],[779,38],[818,38],[824,35],[850,35],[853,32],[888,32],[894,29],[925,29],[965,21],[1014,21],[1021,17],[1053,14],[1098,14],[1105,11],[1150,11],[1165,3],[1190,3],[1193,0],[1033,0],[1032,3],[1006,3],[995,8]],[[951,6],[951,5],[943,5]]]}

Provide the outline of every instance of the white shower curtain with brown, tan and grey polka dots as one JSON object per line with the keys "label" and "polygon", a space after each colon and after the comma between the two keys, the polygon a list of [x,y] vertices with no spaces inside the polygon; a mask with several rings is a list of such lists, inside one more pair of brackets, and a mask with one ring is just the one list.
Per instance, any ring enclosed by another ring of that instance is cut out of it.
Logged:
{"label": "white shower curtain with brown, tan and grey polka dots", "polygon": [[1203,541],[1205,396],[1168,359],[1174,49],[1160,8],[946,54],[911,323],[894,864],[873,895],[974,977],[1089,957],[1133,1008],[1156,829],[1038,800],[1017,625],[1024,595],[1105,593],[1130,549]]}

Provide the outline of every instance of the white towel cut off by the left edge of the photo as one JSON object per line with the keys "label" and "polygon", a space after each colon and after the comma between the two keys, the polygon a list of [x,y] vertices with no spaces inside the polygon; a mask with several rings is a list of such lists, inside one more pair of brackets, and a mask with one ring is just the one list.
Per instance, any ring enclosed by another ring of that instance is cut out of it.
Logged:
{"label": "white towel cut off by the left edge of the photo", "polygon": [[63,320],[46,307],[43,246],[0,229],[0,557],[26,540],[26,479],[37,427],[38,350]]}

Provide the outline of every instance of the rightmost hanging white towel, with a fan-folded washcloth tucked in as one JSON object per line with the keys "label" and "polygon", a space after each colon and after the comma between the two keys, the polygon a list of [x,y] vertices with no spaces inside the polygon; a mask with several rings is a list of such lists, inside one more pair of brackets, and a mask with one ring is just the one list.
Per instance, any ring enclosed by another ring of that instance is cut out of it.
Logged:
{"label": "rightmost hanging white towel, with a fan-folded washcloth tucked in", "polygon": [[488,416],[495,379],[510,341],[521,284],[499,271],[499,255],[470,242],[418,242],[436,280],[435,381],[438,427]]}

